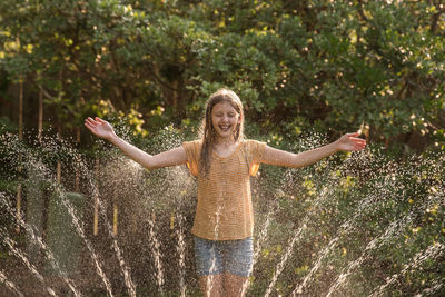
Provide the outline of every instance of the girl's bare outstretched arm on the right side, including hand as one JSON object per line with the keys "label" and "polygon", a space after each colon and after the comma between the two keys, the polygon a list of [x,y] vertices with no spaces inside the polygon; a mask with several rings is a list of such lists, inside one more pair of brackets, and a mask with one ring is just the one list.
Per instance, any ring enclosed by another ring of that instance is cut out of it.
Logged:
{"label": "girl's bare outstretched arm on the right side, including hand", "polygon": [[338,140],[316,149],[293,154],[266,146],[263,162],[294,168],[303,168],[315,164],[325,157],[334,155],[337,151],[357,151],[366,146],[364,139],[357,138],[359,133],[347,133]]}

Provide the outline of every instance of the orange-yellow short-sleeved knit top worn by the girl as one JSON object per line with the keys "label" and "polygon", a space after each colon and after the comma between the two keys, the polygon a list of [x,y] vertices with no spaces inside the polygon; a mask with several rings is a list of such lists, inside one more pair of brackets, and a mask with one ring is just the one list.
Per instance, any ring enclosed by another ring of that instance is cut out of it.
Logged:
{"label": "orange-yellow short-sleeved knit top worn by the girl", "polygon": [[253,236],[254,212],[250,176],[258,171],[265,142],[244,140],[227,157],[215,151],[206,177],[199,172],[201,140],[182,143],[187,166],[198,177],[198,204],[191,232],[210,240],[235,240]]}

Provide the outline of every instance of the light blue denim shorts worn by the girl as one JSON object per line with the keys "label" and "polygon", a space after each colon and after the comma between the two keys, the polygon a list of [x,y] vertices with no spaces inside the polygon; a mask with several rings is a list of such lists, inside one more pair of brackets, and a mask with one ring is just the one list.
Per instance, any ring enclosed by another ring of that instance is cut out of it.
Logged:
{"label": "light blue denim shorts worn by the girl", "polygon": [[238,240],[208,240],[195,236],[195,258],[198,275],[229,273],[248,277],[254,260],[251,237]]}

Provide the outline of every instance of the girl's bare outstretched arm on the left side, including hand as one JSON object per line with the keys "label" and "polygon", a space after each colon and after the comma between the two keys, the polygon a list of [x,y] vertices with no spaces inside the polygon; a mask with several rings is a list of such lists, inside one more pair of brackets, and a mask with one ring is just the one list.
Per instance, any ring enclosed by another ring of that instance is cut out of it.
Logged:
{"label": "girl's bare outstretched arm on the left side, including hand", "polygon": [[116,147],[118,147],[125,155],[130,157],[132,160],[140,164],[147,169],[155,169],[175,165],[182,165],[187,162],[187,155],[182,147],[178,147],[161,154],[151,156],[141,149],[128,143],[115,133],[111,125],[101,118],[96,117],[87,118],[85,126],[97,137],[103,138]]}

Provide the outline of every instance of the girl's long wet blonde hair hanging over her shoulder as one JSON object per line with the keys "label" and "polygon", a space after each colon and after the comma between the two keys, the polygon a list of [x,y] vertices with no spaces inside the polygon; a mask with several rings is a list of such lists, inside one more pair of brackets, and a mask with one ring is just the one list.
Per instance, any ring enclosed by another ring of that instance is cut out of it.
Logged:
{"label": "girl's long wet blonde hair hanging over her shoulder", "polygon": [[211,121],[211,111],[217,103],[220,102],[229,102],[234,109],[238,112],[241,117],[239,123],[235,129],[234,140],[236,142],[244,139],[244,110],[243,110],[243,102],[239,97],[231,90],[228,89],[219,89],[214,92],[206,102],[206,115],[202,119],[201,125],[201,139],[202,139],[202,149],[201,156],[199,160],[199,171],[202,172],[202,176],[207,176],[210,171],[210,158],[211,151],[214,149],[215,139],[216,139],[216,131],[214,123]]}

